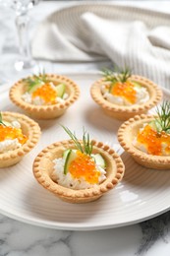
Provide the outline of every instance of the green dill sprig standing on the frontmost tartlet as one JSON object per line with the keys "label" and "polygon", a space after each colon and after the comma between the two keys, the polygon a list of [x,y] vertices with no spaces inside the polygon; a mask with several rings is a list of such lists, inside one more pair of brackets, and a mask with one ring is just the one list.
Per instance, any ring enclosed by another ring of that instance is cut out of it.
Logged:
{"label": "green dill sprig standing on the frontmost tartlet", "polygon": [[63,125],[62,125],[62,127],[65,130],[65,132],[67,132],[67,134],[70,136],[71,140],[73,140],[76,148],[83,154],[90,156],[92,153],[92,144],[89,139],[89,134],[86,133],[85,128],[84,128],[84,134],[83,134],[83,145],[84,145],[84,147],[83,147],[82,144],[80,143],[79,139],[76,137],[75,133],[72,133],[69,128],[67,128]]}

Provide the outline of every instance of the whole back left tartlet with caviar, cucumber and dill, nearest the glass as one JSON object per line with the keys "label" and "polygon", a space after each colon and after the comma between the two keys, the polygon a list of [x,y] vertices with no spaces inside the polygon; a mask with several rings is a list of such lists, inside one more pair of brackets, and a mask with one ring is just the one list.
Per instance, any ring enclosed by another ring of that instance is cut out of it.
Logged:
{"label": "whole back left tartlet with caviar, cucumber and dill, nearest the glass", "polygon": [[61,116],[79,96],[80,90],[74,81],[45,73],[22,79],[10,90],[11,100],[37,119]]}

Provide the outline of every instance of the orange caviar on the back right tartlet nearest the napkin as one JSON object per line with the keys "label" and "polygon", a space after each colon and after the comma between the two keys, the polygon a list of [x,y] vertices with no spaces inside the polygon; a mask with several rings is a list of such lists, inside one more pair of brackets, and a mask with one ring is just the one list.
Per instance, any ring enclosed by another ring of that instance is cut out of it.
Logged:
{"label": "orange caviar on the back right tartlet nearest the napkin", "polygon": [[131,82],[116,83],[111,90],[113,96],[123,96],[131,103],[136,102],[137,92],[134,90],[135,86]]}

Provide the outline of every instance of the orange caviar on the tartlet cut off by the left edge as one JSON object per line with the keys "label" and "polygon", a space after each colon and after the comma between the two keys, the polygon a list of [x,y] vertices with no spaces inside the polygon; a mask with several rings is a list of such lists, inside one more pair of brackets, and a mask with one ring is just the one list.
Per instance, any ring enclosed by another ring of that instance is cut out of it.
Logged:
{"label": "orange caviar on the tartlet cut off by the left edge", "polygon": [[27,136],[22,133],[21,129],[0,125],[0,142],[5,140],[18,139],[19,143],[25,144],[28,140]]}

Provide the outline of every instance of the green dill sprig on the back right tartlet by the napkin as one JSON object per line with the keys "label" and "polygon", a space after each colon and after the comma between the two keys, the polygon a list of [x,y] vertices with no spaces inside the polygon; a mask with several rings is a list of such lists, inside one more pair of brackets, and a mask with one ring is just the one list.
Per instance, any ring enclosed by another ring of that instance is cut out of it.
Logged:
{"label": "green dill sprig on the back right tartlet by the napkin", "polygon": [[104,69],[102,71],[102,74],[106,81],[109,81],[112,83],[116,83],[116,82],[125,83],[132,76],[132,71],[129,67],[125,67],[125,68],[115,67],[115,69],[113,70]]}

